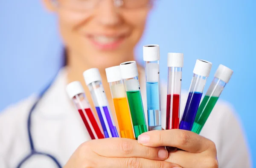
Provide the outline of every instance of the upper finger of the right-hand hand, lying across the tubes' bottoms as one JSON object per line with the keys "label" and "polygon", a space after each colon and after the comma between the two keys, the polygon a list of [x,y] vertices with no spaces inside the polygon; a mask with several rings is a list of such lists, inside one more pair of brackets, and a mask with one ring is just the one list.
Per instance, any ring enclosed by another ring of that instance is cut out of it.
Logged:
{"label": "upper finger of the right-hand hand, lying across the tubes' bottoms", "polygon": [[172,146],[185,151],[200,153],[209,148],[210,140],[187,130],[153,130],[141,134],[138,142],[145,146]]}

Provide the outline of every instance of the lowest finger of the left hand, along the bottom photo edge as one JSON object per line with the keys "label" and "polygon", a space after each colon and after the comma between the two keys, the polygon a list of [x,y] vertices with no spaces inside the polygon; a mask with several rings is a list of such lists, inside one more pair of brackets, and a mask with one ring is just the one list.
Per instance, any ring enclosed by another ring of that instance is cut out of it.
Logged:
{"label": "lowest finger of the left hand, along the bottom photo edge", "polygon": [[171,162],[150,160],[138,157],[129,158],[107,158],[101,159],[99,167],[104,168],[181,168],[179,165]]}

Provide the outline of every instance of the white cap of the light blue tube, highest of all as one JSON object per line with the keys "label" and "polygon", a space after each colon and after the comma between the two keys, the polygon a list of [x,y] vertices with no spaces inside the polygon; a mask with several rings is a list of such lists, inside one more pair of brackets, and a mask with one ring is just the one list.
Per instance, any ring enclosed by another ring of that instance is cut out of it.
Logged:
{"label": "white cap of the light blue tube, highest of all", "polygon": [[143,46],[144,61],[158,61],[160,59],[159,45]]}

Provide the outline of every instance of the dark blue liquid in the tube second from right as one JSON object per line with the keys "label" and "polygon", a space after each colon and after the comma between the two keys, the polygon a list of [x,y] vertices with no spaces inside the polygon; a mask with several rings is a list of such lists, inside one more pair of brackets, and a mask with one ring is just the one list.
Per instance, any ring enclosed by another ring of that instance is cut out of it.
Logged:
{"label": "dark blue liquid in the tube second from right", "polygon": [[195,115],[198,110],[198,106],[200,104],[202,97],[202,93],[199,92],[190,92],[187,102],[186,102],[186,107],[180,122],[180,129],[182,130],[191,130],[192,125],[195,121]]}

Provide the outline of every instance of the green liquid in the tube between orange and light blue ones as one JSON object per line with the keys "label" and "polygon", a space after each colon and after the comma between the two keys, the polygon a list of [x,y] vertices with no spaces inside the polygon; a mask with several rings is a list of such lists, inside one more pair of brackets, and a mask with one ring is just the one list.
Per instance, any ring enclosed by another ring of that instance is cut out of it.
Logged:
{"label": "green liquid in the tube between orange and light blue ones", "polygon": [[148,131],[148,128],[145,122],[140,90],[128,91],[126,93],[127,93],[130,111],[131,111],[131,119],[134,126],[135,138],[138,139],[138,136],[140,134]]}

